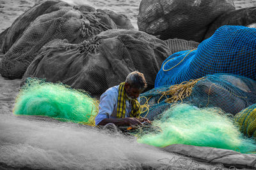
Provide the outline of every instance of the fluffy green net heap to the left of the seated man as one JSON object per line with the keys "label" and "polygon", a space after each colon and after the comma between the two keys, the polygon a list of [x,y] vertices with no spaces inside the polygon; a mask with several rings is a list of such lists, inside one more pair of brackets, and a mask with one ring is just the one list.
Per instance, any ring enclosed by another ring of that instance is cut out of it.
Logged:
{"label": "fluffy green net heap to the left of the seated man", "polygon": [[13,113],[95,125],[98,107],[97,100],[84,91],[29,78],[16,98]]}

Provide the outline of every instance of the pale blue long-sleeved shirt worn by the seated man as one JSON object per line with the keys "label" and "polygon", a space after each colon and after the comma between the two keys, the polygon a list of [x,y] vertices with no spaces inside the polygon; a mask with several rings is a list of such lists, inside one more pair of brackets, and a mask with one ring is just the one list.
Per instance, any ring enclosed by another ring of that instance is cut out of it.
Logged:
{"label": "pale blue long-sleeved shirt worn by the seated man", "polygon": [[[95,124],[98,125],[104,118],[116,118],[119,85],[109,88],[100,96],[99,113],[95,117]],[[137,98],[139,101],[139,98]],[[125,99],[125,117],[130,117],[132,104]]]}

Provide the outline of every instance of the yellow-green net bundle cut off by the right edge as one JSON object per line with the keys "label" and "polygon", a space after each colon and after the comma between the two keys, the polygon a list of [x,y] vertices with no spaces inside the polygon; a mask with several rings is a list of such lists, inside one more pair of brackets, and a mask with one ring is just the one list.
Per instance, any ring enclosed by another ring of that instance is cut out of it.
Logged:
{"label": "yellow-green net bundle cut off by the right edge", "polygon": [[243,134],[256,139],[256,104],[237,113],[234,122]]}

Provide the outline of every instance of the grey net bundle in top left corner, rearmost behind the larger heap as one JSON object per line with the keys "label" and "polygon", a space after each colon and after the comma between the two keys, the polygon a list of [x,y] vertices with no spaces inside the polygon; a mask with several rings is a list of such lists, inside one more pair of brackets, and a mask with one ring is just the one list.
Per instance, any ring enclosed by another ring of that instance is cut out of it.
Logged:
{"label": "grey net bundle in top left corner, rearmost behind the larger heap", "polygon": [[3,53],[8,52],[13,43],[22,35],[22,33],[28,28],[29,24],[33,22],[37,17],[58,11],[60,9],[71,9],[67,3],[62,1],[44,1],[43,3],[36,4],[28,11],[20,15],[13,24],[0,34],[0,51]]}

